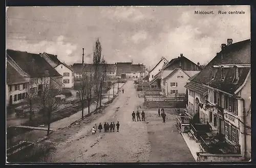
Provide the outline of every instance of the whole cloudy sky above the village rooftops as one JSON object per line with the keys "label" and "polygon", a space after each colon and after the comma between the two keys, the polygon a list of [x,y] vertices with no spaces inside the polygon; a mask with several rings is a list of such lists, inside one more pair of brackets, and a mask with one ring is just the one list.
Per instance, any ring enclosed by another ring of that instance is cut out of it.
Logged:
{"label": "whole cloudy sky above the village rooftops", "polygon": [[67,64],[81,63],[82,48],[85,61],[92,62],[97,38],[108,63],[133,61],[147,67],[180,53],[204,64],[228,38],[250,38],[249,6],[9,7],[7,18],[8,49],[57,54]]}

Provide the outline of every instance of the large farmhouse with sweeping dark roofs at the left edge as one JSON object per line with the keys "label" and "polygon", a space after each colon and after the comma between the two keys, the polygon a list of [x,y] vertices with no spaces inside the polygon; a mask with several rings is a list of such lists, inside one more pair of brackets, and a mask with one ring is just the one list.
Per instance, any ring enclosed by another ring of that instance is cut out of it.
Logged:
{"label": "large farmhouse with sweeping dark roofs at the left edge", "polygon": [[44,85],[62,89],[62,76],[39,54],[7,49],[6,58],[9,105],[22,102],[28,93],[40,94]]}

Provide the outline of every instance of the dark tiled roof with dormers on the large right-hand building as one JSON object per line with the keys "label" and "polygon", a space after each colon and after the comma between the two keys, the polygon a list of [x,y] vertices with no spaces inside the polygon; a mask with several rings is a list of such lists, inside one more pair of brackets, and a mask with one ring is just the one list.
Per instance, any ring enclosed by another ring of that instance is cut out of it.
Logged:
{"label": "dark tiled roof with dormers on the large right-hand building", "polygon": [[234,74],[233,68],[227,68],[225,79],[221,80],[221,68],[216,72],[214,79],[211,79],[212,66],[214,65],[227,65],[227,64],[250,64],[250,40],[233,43],[220,51],[214,59],[212,59],[206,67],[195,76],[192,80],[197,83],[203,83],[212,88],[219,89],[229,94],[234,94],[236,90],[243,85],[250,67],[241,68],[239,70],[239,80],[237,84],[232,83]]}

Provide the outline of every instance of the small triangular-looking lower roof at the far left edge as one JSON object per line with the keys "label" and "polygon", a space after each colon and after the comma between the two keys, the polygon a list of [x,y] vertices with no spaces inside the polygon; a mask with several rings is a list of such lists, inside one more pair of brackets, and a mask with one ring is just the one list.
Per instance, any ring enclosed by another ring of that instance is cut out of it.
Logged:
{"label": "small triangular-looking lower roof at the far left edge", "polygon": [[6,83],[13,85],[17,83],[26,83],[29,79],[22,76],[9,62],[6,65]]}

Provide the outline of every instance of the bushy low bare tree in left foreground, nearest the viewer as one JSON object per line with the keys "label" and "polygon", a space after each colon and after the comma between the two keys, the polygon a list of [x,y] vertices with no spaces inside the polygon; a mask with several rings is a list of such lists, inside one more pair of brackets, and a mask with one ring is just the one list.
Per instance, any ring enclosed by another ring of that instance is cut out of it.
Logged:
{"label": "bushy low bare tree in left foreground, nearest the viewer", "polygon": [[[39,106],[42,108],[44,116],[47,115],[47,124],[48,130],[47,135],[50,134],[50,124],[51,124],[51,116],[52,111],[56,110],[58,107],[58,102],[55,98],[56,87],[50,86],[50,77],[40,77],[40,81],[38,83],[38,102]],[[58,90],[57,90],[58,92]]]}

